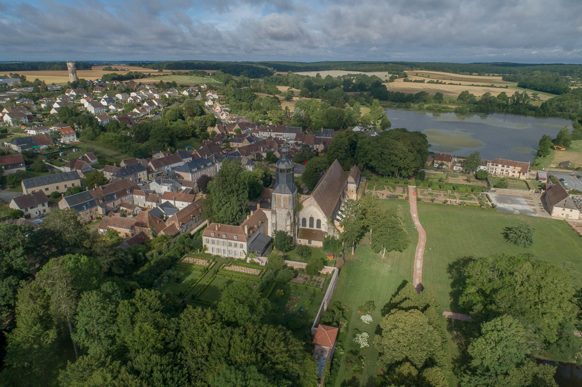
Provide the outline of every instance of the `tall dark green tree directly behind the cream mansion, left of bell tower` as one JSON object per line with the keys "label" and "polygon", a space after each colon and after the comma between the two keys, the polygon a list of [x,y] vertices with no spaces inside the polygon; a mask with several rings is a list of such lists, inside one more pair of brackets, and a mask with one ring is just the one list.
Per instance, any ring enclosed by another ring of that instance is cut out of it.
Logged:
{"label": "tall dark green tree directly behind the cream mansion, left of bell tower", "polygon": [[212,221],[222,224],[241,224],[247,214],[249,188],[243,180],[240,163],[222,162],[211,185]]}

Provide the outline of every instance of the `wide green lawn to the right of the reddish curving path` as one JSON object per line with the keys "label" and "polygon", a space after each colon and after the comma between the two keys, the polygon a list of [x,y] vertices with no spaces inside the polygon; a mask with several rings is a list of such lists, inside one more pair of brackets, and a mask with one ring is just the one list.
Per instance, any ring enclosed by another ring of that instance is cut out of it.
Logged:
{"label": "wide green lawn to the right of the reddish curving path", "polygon": [[[554,264],[567,263],[577,281],[582,278],[582,239],[563,220],[427,203],[418,203],[418,218],[427,233],[423,286],[435,293],[445,310],[463,312],[452,304],[447,273],[449,264],[462,257],[529,253]],[[504,228],[520,222],[535,228],[530,248],[503,239]]]}

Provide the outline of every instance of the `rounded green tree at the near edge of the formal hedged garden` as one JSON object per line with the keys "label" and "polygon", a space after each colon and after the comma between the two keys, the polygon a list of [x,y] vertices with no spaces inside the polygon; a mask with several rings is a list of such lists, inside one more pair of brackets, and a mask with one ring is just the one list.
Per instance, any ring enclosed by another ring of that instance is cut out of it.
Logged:
{"label": "rounded green tree at the near edge of the formal hedged garden", "polygon": [[268,300],[262,298],[252,284],[235,282],[225,289],[217,311],[228,322],[257,323],[265,316],[268,307]]}

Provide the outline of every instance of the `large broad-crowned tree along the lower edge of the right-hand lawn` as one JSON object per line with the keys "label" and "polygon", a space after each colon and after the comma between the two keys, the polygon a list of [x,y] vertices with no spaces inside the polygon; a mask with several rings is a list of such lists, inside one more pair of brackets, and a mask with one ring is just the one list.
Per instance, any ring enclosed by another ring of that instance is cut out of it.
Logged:
{"label": "large broad-crowned tree along the lower edge of the right-hand lawn", "polygon": [[556,342],[560,324],[578,313],[569,272],[530,256],[475,259],[463,269],[463,277],[460,306],[477,321],[505,314],[517,318],[540,338],[536,350]]}

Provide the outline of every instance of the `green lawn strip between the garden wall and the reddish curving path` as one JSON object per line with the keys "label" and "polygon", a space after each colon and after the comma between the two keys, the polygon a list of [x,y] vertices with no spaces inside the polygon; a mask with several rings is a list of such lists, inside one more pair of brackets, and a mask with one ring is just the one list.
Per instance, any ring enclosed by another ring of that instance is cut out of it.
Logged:
{"label": "green lawn strip between the garden wall and the reddish curving path", "polygon": [[[386,200],[385,203],[395,206],[396,200]],[[356,250],[356,258],[346,260],[333,293],[332,302],[338,301],[349,309],[347,335],[343,341],[340,340],[346,353],[354,348],[352,344],[354,328],[370,334],[370,347],[361,349],[361,354],[365,355],[364,372],[362,375],[355,375],[361,385],[368,385],[371,381],[375,381],[380,371],[377,366],[378,350],[373,344],[381,319],[380,311],[403,282],[412,281],[418,233],[410,216],[409,203],[406,200],[398,200],[398,207],[409,235],[409,247],[402,253],[386,253],[386,256],[382,258],[371,250],[370,245],[361,245]],[[369,325],[360,320],[361,314],[357,310],[368,300],[374,300],[376,306],[371,313],[374,321]],[[342,361],[343,357],[345,355],[342,356]],[[345,366],[342,364],[335,385],[342,386],[343,382],[353,376],[346,374]]]}

